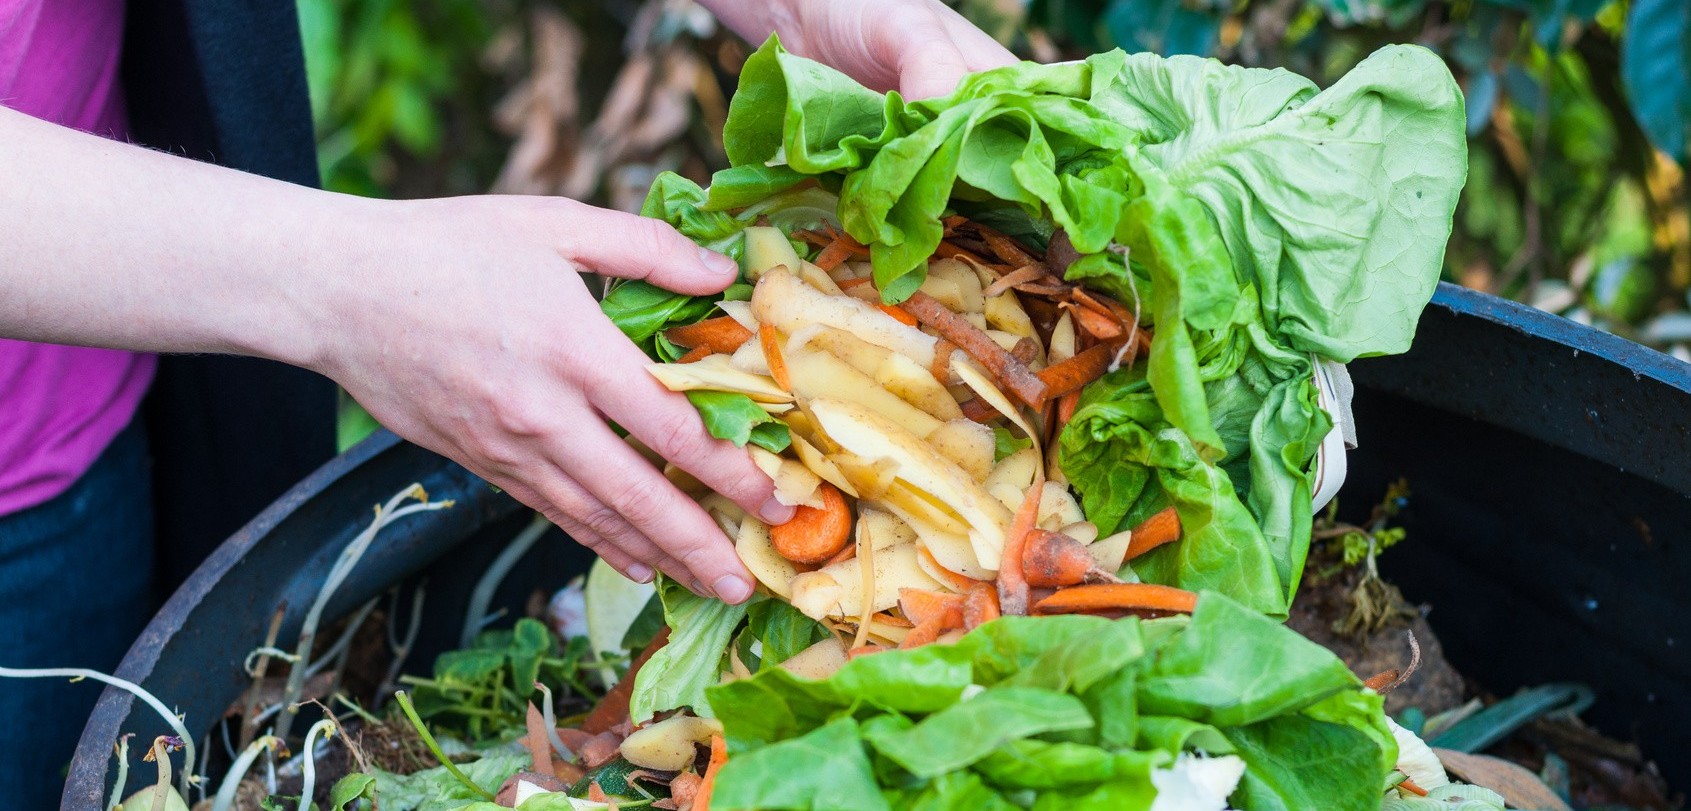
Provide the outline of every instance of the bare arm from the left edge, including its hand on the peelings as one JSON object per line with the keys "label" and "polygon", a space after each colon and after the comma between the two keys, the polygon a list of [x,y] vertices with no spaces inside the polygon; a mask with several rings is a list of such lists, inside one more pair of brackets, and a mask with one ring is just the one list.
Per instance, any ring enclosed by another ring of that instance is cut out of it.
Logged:
{"label": "bare arm from the left edge, including its hand on the peelings", "polygon": [[751,593],[715,524],[607,417],[766,520],[791,515],[646,375],[578,275],[732,280],[731,260],[654,220],[558,198],[348,198],[0,108],[0,336],[313,368],[638,580],[656,566]]}

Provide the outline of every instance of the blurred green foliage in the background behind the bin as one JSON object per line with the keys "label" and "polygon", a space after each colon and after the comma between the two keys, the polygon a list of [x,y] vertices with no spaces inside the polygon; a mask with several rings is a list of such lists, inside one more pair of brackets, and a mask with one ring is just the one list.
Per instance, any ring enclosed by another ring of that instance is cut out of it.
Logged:
{"label": "blurred green foliage in the background behind the bin", "polygon": [[[638,0],[298,0],[325,182],[430,196],[484,191],[512,140],[494,108],[523,69],[501,32],[566,14],[616,73]],[[659,2],[661,20],[697,14]],[[1688,0],[950,0],[1015,51],[1108,47],[1287,68],[1319,83],[1388,42],[1444,56],[1468,96],[1469,179],[1446,277],[1691,358]],[[638,46],[626,46],[638,47]],[[697,42],[732,90],[742,49]],[[594,91],[587,91],[588,96]],[[588,106],[583,101],[583,106]],[[697,115],[697,112],[695,112]],[[719,122],[705,122],[717,125]],[[693,166],[714,149],[681,144]]]}

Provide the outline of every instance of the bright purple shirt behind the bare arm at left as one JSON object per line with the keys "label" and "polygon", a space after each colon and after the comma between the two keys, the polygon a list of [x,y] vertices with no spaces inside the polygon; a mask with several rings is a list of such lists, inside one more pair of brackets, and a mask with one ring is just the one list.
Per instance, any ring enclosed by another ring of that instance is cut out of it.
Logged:
{"label": "bright purple shirt behind the bare arm at left", "polygon": [[[122,41],[123,0],[0,0],[0,105],[122,139]],[[134,419],[154,365],[0,340],[0,515],[69,488]]]}

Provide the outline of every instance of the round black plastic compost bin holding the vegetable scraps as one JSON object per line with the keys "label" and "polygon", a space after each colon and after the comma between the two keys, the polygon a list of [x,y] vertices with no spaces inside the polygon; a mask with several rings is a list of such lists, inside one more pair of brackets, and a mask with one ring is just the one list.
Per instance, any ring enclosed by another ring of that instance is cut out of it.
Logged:
{"label": "round black plastic compost bin holding the vegetable scraps", "polygon": [[[1382,558],[1458,667],[1507,694],[1546,681],[1595,688],[1586,718],[1637,740],[1671,784],[1691,723],[1691,365],[1530,308],[1441,286],[1402,357],[1358,360],[1341,512],[1361,514],[1407,478],[1409,542]],[[250,683],[242,661],[286,607],[294,639],[340,549],[370,507],[411,482],[450,510],[401,520],[367,551],[330,617],[426,581],[413,667],[457,640],[470,590],[528,520],[463,468],[382,433],[323,466],[225,542],[137,639],[118,676],[216,723]],[[519,610],[588,554],[541,542],[495,605]],[[1681,639],[1688,637],[1688,639]],[[63,808],[103,808],[112,743],[166,733],[129,693],[107,689],[83,730]],[[125,794],[150,781],[130,774]]]}

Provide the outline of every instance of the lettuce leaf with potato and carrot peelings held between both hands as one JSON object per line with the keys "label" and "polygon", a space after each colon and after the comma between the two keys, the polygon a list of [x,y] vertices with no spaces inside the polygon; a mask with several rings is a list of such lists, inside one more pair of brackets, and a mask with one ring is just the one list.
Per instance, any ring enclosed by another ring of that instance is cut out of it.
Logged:
{"label": "lettuce leaf with potato and carrot peelings held between both hands", "polygon": [[[967,466],[982,433],[966,422],[984,424],[994,451],[1033,448],[1035,476],[1097,537],[1174,509],[1182,539],[1135,561],[1138,580],[1273,617],[1334,424],[1314,367],[1409,346],[1466,166],[1459,91],[1409,46],[1324,91],[1116,51],[905,101],[771,41],[742,69],[724,144],[734,166],[709,193],[668,174],[644,213],[739,257],[741,284],[692,297],[631,282],[604,302],[712,433],[840,493],[867,487],[857,502],[947,571],[994,580],[1003,541],[1021,539],[1020,498],[993,487],[1032,480],[986,485],[1003,460]],[[923,536],[935,527],[967,544]]]}

